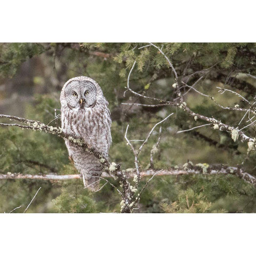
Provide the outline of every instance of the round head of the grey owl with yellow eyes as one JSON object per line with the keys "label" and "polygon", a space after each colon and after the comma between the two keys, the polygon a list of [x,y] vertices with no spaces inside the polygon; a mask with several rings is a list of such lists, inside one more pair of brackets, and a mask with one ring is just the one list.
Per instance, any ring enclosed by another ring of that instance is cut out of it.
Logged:
{"label": "round head of the grey owl with yellow eyes", "polygon": [[60,94],[62,107],[72,110],[93,108],[97,99],[103,97],[100,86],[92,78],[79,76],[69,79],[63,86]]}

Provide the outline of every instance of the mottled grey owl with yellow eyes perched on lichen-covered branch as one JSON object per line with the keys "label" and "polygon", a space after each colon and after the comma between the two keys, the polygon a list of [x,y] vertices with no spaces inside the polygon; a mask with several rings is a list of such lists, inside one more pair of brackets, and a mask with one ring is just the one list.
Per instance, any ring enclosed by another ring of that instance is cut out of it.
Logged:
{"label": "mottled grey owl with yellow eyes perched on lichen-covered branch", "polygon": [[[108,101],[97,82],[86,76],[69,79],[61,94],[61,128],[63,132],[82,138],[89,148],[108,157],[111,144],[111,118]],[[65,139],[69,157],[82,174],[84,186],[95,191],[99,187],[102,165],[97,157]]]}

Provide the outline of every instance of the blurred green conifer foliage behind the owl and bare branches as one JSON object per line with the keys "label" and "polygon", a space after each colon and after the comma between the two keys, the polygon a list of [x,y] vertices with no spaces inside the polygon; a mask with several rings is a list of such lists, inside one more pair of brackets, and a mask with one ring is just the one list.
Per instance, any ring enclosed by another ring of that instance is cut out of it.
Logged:
{"label": "blurred green conifer foliage behind the owl and bare branches", "polygon": [[[247,154],[247,144],[234,142],[230,134],[210,126],[177,134],[204,122],[189,117],[181,109],[170,106],[148,108],[122,103],[154,103],[126,92],[127,76],[134,91],[171,100],[175,98],[174,76],[162,54],[155,47],[140,47],[146,43],[1,43],[0,44],[0,114],[36,119],[61,126],[60,91],[65,82],[75,76],[89,76],[99,83],[109,102],[113,125],[113,144],[109,156],[122,162],[122,169],[134,167],[134,158],[126,145],[127,124],[131,140],[145,139],[155,123],[174,113],[162,125],[162,137],[154,155],[155,169],[182,166],[188,160],[194,164],[241,165],[256,175],[255,153]],[[214,97],[221,105],[247,108],[234,93],[218,92],[225,87],[255,101],[256,44],[254,43],[156,43],[172,60],[181,81]],[[188,88],[183,87],[182,92]],[[196,113],[238,126],[244,113],[223,110],[195,91],[186,93],[187,105]],[[252,117],[252,116],[250,116]],[[247,125],[244,118],[239,127]],[[3,120],[7,122],[7,120]],[[255,128],[244,132],[255,137]],[[157,142],[159,127],[150,137],[140,155],[140,164],[147,170],[150,150]],[[139,147],[141,142],[133,142]],[[51,134],[23,131],[18,127],[0,127],[0,173],[75,174],[69,163],[65,143]],[[150,177],[143,178],[141,187]],[[114,185],[118,181],[110,179]],[[103,182],[102,182],[103,185]],[[106,185],[97,193],[83,189],[81,180],[0,180],[0,212],[23,212],[39,193],[27,212],[90,213],[119,212],[118,193]],[[144,191],[134,212],[255,212],[256,190],[232,175],[189,175],[155,177]]]}

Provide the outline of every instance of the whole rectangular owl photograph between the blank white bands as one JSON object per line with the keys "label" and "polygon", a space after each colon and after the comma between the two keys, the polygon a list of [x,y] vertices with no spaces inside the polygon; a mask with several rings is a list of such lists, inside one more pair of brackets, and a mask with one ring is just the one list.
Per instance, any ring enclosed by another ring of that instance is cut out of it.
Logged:
{"label": "whole rectangular owl photograph between the blank white bands", "polygon": [[254,43],[1,43],[0,212],[256,212]]}

